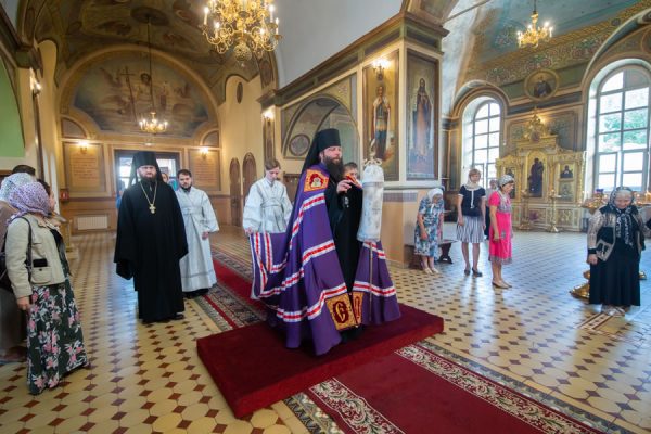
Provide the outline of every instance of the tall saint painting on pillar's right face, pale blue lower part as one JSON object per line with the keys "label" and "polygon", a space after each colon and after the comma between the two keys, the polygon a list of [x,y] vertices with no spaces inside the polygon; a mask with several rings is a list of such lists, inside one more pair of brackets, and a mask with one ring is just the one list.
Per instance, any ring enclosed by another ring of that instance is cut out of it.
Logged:
{"label": "tall saint painting on pillar's right face, pale blue lower part", "polygon": [[436,61],[407,56],[407,179],[436,175]]}

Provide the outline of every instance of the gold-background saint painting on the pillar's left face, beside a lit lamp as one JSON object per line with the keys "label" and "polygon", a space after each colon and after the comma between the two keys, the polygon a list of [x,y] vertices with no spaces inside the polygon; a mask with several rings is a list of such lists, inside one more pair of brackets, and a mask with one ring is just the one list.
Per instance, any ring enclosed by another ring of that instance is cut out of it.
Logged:
{"label": "gold-background saint painting on the pillar's left face, beside a lit lamp", "polygon": [[372,66],[363,69],[363,158],[381,159],[384,179],[398,180],[398,52],[384,59],[379,74]]}

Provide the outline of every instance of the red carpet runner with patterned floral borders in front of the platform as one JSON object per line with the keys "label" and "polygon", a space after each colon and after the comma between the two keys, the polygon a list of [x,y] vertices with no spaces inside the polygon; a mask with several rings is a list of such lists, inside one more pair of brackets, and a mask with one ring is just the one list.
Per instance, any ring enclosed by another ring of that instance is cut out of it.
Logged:
{"label": "red carpet runner with patterned floral borders in front of the platform", "polygon": [[598,433],[551,408],[411,345],[312,387],[347,433]]}

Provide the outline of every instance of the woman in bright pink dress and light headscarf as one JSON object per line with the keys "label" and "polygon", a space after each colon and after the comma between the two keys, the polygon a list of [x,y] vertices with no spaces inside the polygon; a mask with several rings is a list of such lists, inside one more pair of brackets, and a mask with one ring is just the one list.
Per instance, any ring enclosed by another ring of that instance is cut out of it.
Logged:
{"label": "woman in bright pink dress and light headscarf", "polygon": [[497,288],[511,288],[501,277],[502,264],[511,264],[511,197],[509,194],[514,188],[513,177],[503,175],[497,181],[497,191],[488,199],[490,207],[490,244],[488,245],[488,260],[493,269],[493,285]]}

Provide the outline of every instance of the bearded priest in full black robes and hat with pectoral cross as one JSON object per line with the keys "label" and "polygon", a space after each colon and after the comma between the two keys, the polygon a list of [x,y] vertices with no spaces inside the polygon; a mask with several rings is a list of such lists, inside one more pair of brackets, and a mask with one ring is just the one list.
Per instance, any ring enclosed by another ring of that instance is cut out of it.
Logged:
{"label": "bearded priest in full black robes and hat with pectoral cross", "polygon": [[119,276],[133,278],[142,322],[183,317],[179,259],[187,253],[186,228],[176,193],[163,181],[155,154],[138,152],[119,206],[113,260]]}

